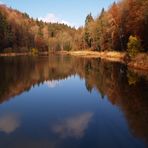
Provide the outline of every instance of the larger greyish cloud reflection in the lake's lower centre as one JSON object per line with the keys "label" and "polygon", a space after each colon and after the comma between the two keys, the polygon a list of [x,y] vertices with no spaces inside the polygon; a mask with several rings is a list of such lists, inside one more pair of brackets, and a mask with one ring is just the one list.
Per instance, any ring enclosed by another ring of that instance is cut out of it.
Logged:
{"label": "larger greyish cloud reflection in the lake's lower centre", "polygon": [[55,124],[52,129],[61,138],[82,138],[92,116],[93,113],[88,112],[76,115],[74,117],[69,117],[64,121]]}

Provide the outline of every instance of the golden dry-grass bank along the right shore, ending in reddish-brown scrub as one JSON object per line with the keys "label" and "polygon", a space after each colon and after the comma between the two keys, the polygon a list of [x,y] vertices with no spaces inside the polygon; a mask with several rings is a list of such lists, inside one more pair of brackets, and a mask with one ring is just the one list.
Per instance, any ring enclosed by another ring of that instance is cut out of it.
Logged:
{"label": "golden dry-grass bank along the right shore, ending in reddish-brown scrub", "polygon": [[131,58],[131,60],[129,60],[126,52],[115,51],[63,51],[62,54],[86,58],[101,58],[109,61],[122,62],[127,64],[129,68],[148,71],[148,53],[138,53],[134,58]]}

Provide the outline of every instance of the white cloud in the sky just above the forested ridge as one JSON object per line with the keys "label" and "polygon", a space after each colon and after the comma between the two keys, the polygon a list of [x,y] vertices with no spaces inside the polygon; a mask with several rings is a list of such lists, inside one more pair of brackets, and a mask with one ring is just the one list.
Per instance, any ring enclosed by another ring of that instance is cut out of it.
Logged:
{"label": "white cloud in the sky just above the forested ridge", "polygon": [[47,22],[47,23],[61,23],[61,24],[66,24],[68,26],[73,27],[73,25],[70,22],[65,21],[63,19],[60,19],[59,17],[57,17],[53,13],[48,13],[45,17],[39,17],[39,20],[42,20],[43,22]]}

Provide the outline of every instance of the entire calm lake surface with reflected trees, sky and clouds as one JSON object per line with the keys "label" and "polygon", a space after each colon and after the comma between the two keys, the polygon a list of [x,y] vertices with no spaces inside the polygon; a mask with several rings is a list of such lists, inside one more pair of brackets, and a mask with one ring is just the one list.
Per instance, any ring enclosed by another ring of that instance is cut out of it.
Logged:
{"label": "entire calm lake surface with reflected trees, sky and clouds", "polygon": [[0,148],[148,147],[148,78],[99,59],[0,58]]}

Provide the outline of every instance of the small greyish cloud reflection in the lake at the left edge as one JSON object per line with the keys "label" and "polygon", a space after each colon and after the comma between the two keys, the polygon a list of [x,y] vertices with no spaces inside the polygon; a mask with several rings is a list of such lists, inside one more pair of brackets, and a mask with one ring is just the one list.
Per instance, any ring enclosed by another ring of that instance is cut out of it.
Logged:
{"label": "small greyish cloud reflection in the lake at the left edge", "polygon": [[11,134],[19,126],[20,120],[17,114],[7,113],[0,116],[0,132]]}

